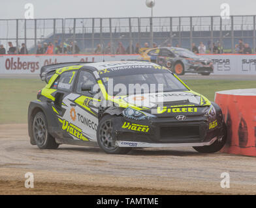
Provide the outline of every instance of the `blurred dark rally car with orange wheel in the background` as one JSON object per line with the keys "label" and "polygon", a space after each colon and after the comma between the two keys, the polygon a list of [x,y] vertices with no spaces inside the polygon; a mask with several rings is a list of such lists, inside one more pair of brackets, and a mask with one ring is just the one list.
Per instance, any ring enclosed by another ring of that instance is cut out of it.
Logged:
{"label": "blurred dark rally car with orange wheel in the background", "polygon": [[148,49],[141,56],[140,60],[165,66],[177,75],[184,75],[186,72],[210,75],[210,73],[214,72],[212,60],[200,57],[181,47]]}

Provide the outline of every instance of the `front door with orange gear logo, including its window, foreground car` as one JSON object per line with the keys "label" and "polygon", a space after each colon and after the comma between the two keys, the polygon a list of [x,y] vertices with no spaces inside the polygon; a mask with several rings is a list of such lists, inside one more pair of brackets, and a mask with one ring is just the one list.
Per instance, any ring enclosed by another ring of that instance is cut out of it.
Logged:
{"label": "front door with orange gear logo, including its window, foreground car", "polygon": [[[69,132],[69,135],[74,139],[97,140],[100,102],[95,98],[95,93],[93,93],[95,85],[97,85],[97,81],[93,73],[81,70],[76,79],[74,91],[63,99],[63,105],[67,109],[64,119],[69,122],[67,127],[70,125],[74,128],[76,134]],[[90,86],[91,90],[84,91],[85,86],[87,88]],[[63,130],[65,131],[66,129]]]}

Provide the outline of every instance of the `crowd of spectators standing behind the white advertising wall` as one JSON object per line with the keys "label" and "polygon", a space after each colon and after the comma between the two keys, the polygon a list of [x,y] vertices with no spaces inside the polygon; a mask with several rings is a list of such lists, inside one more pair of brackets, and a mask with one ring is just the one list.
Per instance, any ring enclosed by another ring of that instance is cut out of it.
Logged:
{"label": "crowd of spectators standing behind the white advertising wall", "polygon": [[[171,44],[166,44],[165,46],[171,47]],[[153,48],[159,47],[155,42],[153,43]],[[176,44],[175,47],[180,47],[180,45]],[[122,42],[118,42],[117,46],[114,47],[110,42],[106,45],[106,47],[103,47],[103,44],[98,44],[94,53],[95,54],[139,54],[147,49],[150,49],[150,46],[148,42],[145,42],[143,47],[140,47],[139,43],[135,44],[135,47],[133,46],[133,42],[131,41],[128,47],[125,48],[125,46],[122,44]],[[18,51],[17,51],[18,50]],[[195,43],[191,45],[191,50],[193,53],[214,53],[214,54],[221,54],[225,53],[223,49],[223,45],[221,45],[220,42],[211,44],[208,42],[207,47],[204,45],[203,42],[200,42],[197,46]],[[256,49],[255,49],[256,51]],[[5,49],[3,44],[0,44],[0,55],[3,54],[28,54],[27,47],[24,43],[22,43],[22,46],[20,48],[15,47],[12,42],[8,42],[8,51]],[[61,42],[59,38],[52,42],[44,42],[39,43],[37,45],[37,52],[38,55],[54,55],[54,54],[79,54],[80,53],[80,47],[76,44],[76,42],[69,42],[67,44],[66,42]],[[253,53],[251,47],[249,44],[244,43],[242,39],[239,40],[238,44],[234,47],[234,53],[237,54],[251,54]]]}

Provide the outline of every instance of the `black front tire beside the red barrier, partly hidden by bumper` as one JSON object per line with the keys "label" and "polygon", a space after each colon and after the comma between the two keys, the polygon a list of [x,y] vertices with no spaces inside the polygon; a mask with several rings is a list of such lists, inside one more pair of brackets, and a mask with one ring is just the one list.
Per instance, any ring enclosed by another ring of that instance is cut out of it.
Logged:
{"label": "black front tire beside the red barrier, partly hidden by bumper", "polygon": [[227,141],[227,128],[226,127],[224,127],[224,131],[225,131],[225,133],[221,140],[217,139],[210,146],[193,147],[193,148],[200,153],[215,153],[215,152],[221,150],[221,148],[223,148],[223,146],[225,145],[225,143]]}

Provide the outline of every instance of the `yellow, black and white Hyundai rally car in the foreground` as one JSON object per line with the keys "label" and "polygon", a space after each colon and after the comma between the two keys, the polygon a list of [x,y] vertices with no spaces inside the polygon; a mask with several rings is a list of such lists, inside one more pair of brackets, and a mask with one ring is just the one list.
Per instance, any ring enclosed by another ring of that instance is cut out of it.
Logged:
{"label": "yellow, black and white Hyundai rally car in the foreground", "polygon": [[225,144],[219,106],[155,63],[55,64],[42,67],[40,77],[47,84],[28,110],[30,142],[40,149],[191,146],[213,153]]}

